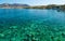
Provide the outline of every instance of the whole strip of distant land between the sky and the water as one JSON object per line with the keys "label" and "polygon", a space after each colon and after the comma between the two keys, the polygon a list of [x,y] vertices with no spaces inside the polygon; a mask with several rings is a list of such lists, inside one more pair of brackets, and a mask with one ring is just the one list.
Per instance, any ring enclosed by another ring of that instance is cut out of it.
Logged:
{"label": "whole strip of distant land between the sky and the water", "polygon": [[56,5],[56,4],[49,4],[49,5],[38,5],[38,6],[30,6],[28,4],[0,4],[0,9],[60,9],[65,10],[65,4]]}

